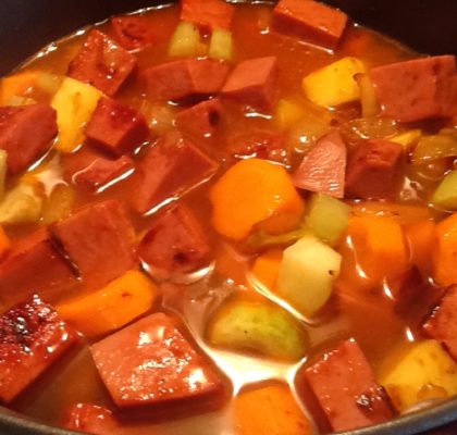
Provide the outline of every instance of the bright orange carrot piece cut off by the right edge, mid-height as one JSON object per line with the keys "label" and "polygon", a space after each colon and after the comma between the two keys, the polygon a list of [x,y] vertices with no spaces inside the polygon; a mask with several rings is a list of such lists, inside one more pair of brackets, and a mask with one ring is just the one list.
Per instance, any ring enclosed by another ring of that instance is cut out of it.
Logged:
{"label": "bright orange carrot piece cut off by the right edge, mid-height", "polygon": [[457,213],[436,225],[433,266],[439,285],[457,284]]}

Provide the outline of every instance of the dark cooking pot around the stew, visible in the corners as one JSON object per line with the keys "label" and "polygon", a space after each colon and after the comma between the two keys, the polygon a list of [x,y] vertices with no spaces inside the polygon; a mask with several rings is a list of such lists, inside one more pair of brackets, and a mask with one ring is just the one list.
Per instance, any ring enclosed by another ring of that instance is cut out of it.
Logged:
{"label": "dark cooking pot around the stew, visible in the corners", "polygon": [[[1,0],[0,75],[47,44],[110,15],[163,0]],[[356,22],[424,53],[457,53],[457,0],[328,0]],[[457,421],[457,399],[344,435],[413,435]],[[457,428],[448,434],[456,433]],[[0,407],[0,434],[71,435]],[[343,433],[342,433],[343,435]]]}

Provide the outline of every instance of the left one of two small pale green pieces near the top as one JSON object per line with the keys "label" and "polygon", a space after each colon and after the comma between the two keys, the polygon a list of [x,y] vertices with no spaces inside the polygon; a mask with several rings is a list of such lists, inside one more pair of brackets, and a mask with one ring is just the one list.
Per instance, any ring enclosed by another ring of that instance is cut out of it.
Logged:
{"label": "left one of two small pale green pieces near the top", "polygon": [[205,55],[206,45],[200,39],[198,28],[192,23],[181,22],[170,40],[171,58],[197,58]]}

